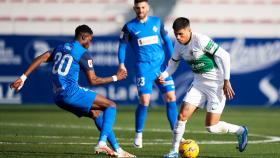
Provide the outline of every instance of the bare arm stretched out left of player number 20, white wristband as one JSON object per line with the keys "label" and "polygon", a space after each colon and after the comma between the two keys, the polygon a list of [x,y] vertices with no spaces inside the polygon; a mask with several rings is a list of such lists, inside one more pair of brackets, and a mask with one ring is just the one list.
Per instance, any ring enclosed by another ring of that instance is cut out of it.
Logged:
{"label": "bare arm stretched out left of player number 20, white wristband", "polygon": [[40,64],[47,62],[50,59],[51,52],[47,51],[42,55],[36,57],[33,62],[29,65],[27,70],[13,83],[10,84],[10,88],[14,88],[17,92],[23,87],[27,77],[37,68]]}

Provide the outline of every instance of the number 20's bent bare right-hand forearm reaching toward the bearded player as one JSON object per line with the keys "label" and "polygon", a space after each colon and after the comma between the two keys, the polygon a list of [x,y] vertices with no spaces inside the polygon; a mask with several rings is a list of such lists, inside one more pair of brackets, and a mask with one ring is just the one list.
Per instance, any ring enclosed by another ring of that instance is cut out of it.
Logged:
{"label": "number 20's bent bare right-hand forearm reaching toward the bearded player", "polygon": [[93,70],[88,70],[86,72],[86,76],[90,85],[96,86],[110,82],[116,82],[118,80],[123,80],[126,78],[127,73],[124,70],[119,70],[116,75],[113,75],[111,77],[98,77],[96,76]]}

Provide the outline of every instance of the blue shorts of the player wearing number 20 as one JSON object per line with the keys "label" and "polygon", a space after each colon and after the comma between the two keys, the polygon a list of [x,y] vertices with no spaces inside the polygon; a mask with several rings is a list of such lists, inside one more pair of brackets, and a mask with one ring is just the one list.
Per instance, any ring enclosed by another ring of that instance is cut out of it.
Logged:
{"label": "blue shorts of the player wearing number 20", "polygon": [[78,117],[90,116],[90,109],[97,93],[80,87],[73,95],[56,95],[54,100],[57,106],[70,111]]}

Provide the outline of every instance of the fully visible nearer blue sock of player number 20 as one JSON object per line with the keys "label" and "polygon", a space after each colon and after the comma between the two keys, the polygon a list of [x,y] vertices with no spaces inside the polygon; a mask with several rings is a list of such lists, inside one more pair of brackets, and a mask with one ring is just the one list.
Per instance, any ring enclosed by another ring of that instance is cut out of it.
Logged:
{"label": "fully visible nearer blue sock of player number 20", "polygon": [[115,123],[116,108],[108,107],[103,111],[103,124],[100,131],[99,141],[106,142],[107,137],[112,132]]}

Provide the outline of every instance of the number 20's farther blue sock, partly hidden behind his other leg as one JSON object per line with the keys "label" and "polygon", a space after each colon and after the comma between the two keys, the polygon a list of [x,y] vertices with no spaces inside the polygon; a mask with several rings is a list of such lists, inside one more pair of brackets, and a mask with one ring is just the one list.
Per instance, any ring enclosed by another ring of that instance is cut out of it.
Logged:
{"label": "number 20's farther blue sock, partly hidden behind his other leg", "polygon": [[[101,131],[103,125],[103,113],[100,113],[100,115],[97,118],[95,118],[94,123],[98,130]],[[120,148],[113,131],[109,133],[107,140],[114,149],[114,151],[117,151],[117,149]]]}

